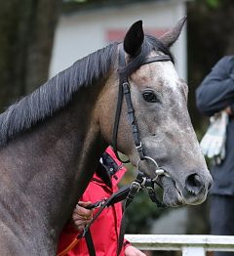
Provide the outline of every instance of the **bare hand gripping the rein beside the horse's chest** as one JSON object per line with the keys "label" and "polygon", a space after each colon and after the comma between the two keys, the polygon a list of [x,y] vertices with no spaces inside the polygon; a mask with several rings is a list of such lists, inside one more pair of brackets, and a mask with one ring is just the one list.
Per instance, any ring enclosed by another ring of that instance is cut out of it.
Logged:
{"label": "bare hand gripping the rein beside the horse's chest", "polygon": [[91,202],[79,201],[72,213],[73,225],[79,232],[82,232],[85,226],[92,220],[94,209],[88,210],[84,206],[90,205]]}

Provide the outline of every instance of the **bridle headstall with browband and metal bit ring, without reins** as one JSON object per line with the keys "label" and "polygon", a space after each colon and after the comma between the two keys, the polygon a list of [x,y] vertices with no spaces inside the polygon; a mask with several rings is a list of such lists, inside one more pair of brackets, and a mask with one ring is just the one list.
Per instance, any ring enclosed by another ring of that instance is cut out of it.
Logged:
{"label": "bridle headstall with browband and metal bit ring, without reins", "polygon": [[[168,55],[158,55],[150,58],[146,58],[143,64],[151,64],[156,62],[172,62],[172,59]],[[143,65],[141,64],[141,65]],[[127,109],[128,109],[128,120],[132,128],[133,138],[135,147],[137,149],[139,160],[137,162],[137,170],[139,168],[140,161],[148,160],[151,161],[155,165],[155,173],[156,177],[153,179],[153,181],[156,181],[159,175],[166,174],[163,169],[160,169],[157,162],[150,156],[147,156],[144,154],[144,150],[142,148],[142,143],[140,141],[139,131],[137,127],[137,119],[135,115],[135,109],[133,107],[132,99],[131,99],[131,91],[130,91],[130,83],[128,76],[121,72],[120,70],[126,67],[126,60],[125,60],[125,51],[123,49],[123,45],[120,47],[119,51],[119,93],[118,93],[118,100],[117,100],[117,107],[115,112],[115,120],[114,120],[114,127],[113,127],[113,136],[112,136],[112,143],[113,143],[113,149],[116,153],[117,158],[124,162],[130,162],[130,160],[123,161],[120,159],[117,151],[117,136],[118,136],[118,127],[119,127],[119,120],[120,120],[120,114],[123,104],[123,98],[125,97]]]}

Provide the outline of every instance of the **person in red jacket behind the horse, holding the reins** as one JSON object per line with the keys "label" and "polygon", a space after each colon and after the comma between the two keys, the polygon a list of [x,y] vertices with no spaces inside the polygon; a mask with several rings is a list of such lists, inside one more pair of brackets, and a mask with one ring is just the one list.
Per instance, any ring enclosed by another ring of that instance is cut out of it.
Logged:
{"label": "person in red jacket behind the horse, holding the reins", "polygon": [[[126,168],[116,158],[116,155],[108,147],[100,158],[101,165],[93,176],[88,188],[77,203],[69,222],[59,236],[58,253],[63,251],[92,220],[98,209],[89,210],[85,206],[108,198],[113,192],[118,190],[118,183],[126,172]],[[105,208],[98,219],[92,224],[90,231],[94,241],[97,256],[116,255],[118,246],[118,235],[122,219],[122,204],[115,203]],[[79,242],[66,254],[68,256],[88,256],[89,251],[85,238]],[[121,256],[144,256],[145,254],[132,246],[129,241],[124,240]]]}

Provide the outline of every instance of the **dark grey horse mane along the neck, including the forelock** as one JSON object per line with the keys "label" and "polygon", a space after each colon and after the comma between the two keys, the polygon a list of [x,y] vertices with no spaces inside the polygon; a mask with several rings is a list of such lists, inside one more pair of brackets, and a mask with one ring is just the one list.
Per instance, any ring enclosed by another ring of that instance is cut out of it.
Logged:
{"label": "dark grey horse mane along the neck, including the forelock", "polygon": [[[116,62],[117,49],[118,43],[113,43],[88,55],[8,107],[0,114],[0,147],[20,132],[30,129],[65,107],[79,88],[92,85],[100,77],[106,76]],[[131,74],[152,50],[161,51],[172,57],[159,40],[145,36],[140,54],[125,68],[120,68],[120,71],[127,75]]]}

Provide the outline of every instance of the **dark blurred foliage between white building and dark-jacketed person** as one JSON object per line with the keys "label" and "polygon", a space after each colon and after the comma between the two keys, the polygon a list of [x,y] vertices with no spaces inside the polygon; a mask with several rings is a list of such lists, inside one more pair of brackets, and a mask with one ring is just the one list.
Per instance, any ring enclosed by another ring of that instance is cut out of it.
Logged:
{"label": "dark blurred foliage between white building and dark-jacketed person", "polygon": [[[224,55],[234,54],[234,2],[232,0],[195,0],[188,12],[189,110],[195,128],[202,129],[204,119],[195,106],[196,87]],[[200,132],[201,133],[201,132]]]}

